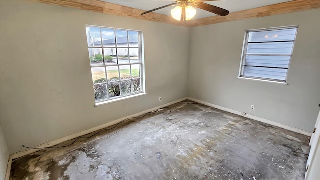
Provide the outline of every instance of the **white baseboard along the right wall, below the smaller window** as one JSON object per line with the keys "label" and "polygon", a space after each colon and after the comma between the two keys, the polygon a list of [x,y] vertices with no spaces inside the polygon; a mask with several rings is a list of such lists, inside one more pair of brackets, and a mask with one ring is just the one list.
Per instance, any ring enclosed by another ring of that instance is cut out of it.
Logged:
{"label": "white baseboard along the right wall, below the smaller window", "polygon": [[274,122],[274,121],[271,121],[271,120],[267,120],[267,119],[264,119],[264,118],[261,118],[261,117],[257,117],[257,116],[250,115],[250,114],[242,115],[242,112],[239,112],[239,111],[236,111],[236,110],[232,110],[232,109],[228,109],[228,108],[225,108],[225,107],[221,107],[221,106],[218,106],[218,105],[215,105],[215,104],[211,104],[211,103],[208,103],[208,102],[204,102],[204,101],[201,101],[201,100],[197,100],[197,99],[194,99],[194,98],[191,98],[191,97],[187,97],[187,99],[188,100],[192,100],[194,102],[198,102],[198,103],[203,104],[203,105],[214,107],[214,108],[217,108],[217,109],[220,109],[220,110],[223,110],[223,111],[227,111],[227,112],[230,112],[230,113],[233,113],[233,114],[237,114],[237,115],[240,115],[240,116],[243,116],[243,117],[247,117],[247,118],[250,118],[250,119],[253,119],[253,120],[257,120],[257,121],[260,121],[260,122],[263,122],[263,123],[267,123],[267,124],[270,124],[270,125],[281,127],[281,128],[284,128],[284,129],[287,129],[287,130],[290,130],[290,131],[293,131],[293,132],[296,132],[296,133],[300,133],[300,134],[307,135],[307,136],[311,136],[312,135],[312,132],[309,132],[309,131],[306,131],[306,130],[302,130],[302,129],[298,129],[298,128],[295,128],[295,127],[291,127],[291,126],[288,126],[288,125],[284,125],[284,124],[281,124],[281,123],[278,123],[278,122]]}

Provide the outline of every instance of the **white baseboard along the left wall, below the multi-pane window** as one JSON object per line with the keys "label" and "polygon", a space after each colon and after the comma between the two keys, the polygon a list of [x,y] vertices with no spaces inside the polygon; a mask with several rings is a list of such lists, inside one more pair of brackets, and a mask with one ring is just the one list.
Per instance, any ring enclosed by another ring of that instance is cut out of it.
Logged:
{"label": "white baseboard along the left wall, below the multi-pane window", "polygon": [[[57,145],[57,144],[59,144],[59,143],[61,143],[61,142],[65,142],[65,141],[74,139],[74,138],[76,138],[76,137],[80,137],[80,136],[82,136],[82,135],[85,135],[85,134],[88,134],[88,133],[91,133],[91,132],[94,132],[94,131],[97,131],[97,130],[100,130],[100,129],[103,129],[103,128],[106,128],[106,127],[109,127],[109,126],[112,126],[112,125],[115,125],[115,124],[121,122],[121,121],[124,120],[124,119],[131,118],[131,117],[137,117],[137,116],[142,115],[142,114],[145,114],[145,113],[147,113],[147,112],[151,112],[151,111],[153,111],[153,110],[156,110],[156,109],[159,109],[159,108],[162,108],[162,107],[166,107],[166,106],[175,104],[175,103],[177,103],[177,102],[181,102],[181,101],[183,101],[183,100],[186,100],[186,97],[185,97],[185,98],[178,99],[178,100],[175,100],[175,101],[173,101],[173,102],[169,102],[169,103],[166,103],[166,104],[163,104],[163,105],[154,107],[154,108],[151,108],[151,109],[148,109],[148,110],[144,110],[144,111],[142,111],[142,112],[139,112],[139,113],[136,113],[136,114],[133,114],[133,115],[129,115],[129,116],[126,116],[126,117],[117,119],[117,120],[113,120],[113,121],[111,121],[111,122],[108,122],[108,123],[99,125],[99,126],[97,126],[97,127],[93,127],[93,128],[90,128],[90,129],[87,129],[87,130],[84,130],[84,131],[81,131],[81,132],[78,132],[78,133],[75,133],[75,134],[72,134],[72,135],[68,135],[68,136],[66,136],[66,137],[59,138],[59,139],[57,139],[57,140],[53,140],[53,141],[50,141],[50,142],[47,142],[47,143],[44,143],[44,144],[41,144],[41,145],[37,145],[37,146],[35,146],[34,148],[51,147],[51,146]],[[16,153],[13,153],[13,154],[10,155],[10,159],[11,159],[11,160],[12,160],[12,159],[16,159],[16,158],[19,158],[19,157],[28,155],[28,154],[30,154],[30,153],[39,151],[39,150],[41,150],[41,149],[27,149],[27,150],[24,150],[24,151],[16,152]]]}

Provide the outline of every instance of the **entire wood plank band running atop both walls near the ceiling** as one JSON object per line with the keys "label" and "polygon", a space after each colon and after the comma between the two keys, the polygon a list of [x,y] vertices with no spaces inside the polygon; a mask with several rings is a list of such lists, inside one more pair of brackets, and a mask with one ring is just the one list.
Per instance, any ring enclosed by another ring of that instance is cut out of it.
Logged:
{"label": "entire wood plank band running atop both walls near the ceiling", "polygon": [[284,13],[298,12],[302,10],[311,10],[320,8],[320,0],[294,0],[279,4],[257,7],[248,10],[229,13],[227,16],[212,16],[197,20],[180,22],[174,20],[171,16],[159,13],[148,13],[140,15],[144,10],[131,8],[123,5],[113,4],[100,0],[30,0],[40,3],[59,5],[63,7],[71,7],[81,10],[117,15],[122,17],[130,17],[141,20],[149,20],[154,22],[168,23],[186,27],[196,27],[201,25],[216,24],[229,22],[234,20],[250,19],[257,17],[265,17],[270,15],[278,15]]}

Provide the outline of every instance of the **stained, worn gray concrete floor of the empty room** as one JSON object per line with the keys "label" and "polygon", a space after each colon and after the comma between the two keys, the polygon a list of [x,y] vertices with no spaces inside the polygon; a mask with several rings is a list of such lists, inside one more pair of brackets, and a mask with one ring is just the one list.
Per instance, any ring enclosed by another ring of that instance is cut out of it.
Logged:
{"label": "stained, worn gray concrete floor of the empty room", "polygon": [[307,136],[188,100],[170,107],[15,159],[10,179],[304,179]]}

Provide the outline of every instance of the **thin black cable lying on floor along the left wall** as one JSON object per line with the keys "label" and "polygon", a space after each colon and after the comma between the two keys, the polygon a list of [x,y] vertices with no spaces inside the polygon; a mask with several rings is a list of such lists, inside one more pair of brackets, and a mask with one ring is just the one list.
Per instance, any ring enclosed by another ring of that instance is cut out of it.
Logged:
{"label": "thin black cable lying on floor along the left wall", "polygon": [[[171,112],[171,111],[172,111],[172,108],[170,108],[170,107],[163,107],[163,108],[160,108],[160,109],[163,110],[164,108],[169,109],[168,112]],[[97,131],[96,133],[94,133],[94,134],[92,134],[92,135],[90,135],[90,136],[88,136],[88,137],[83,137],[83,136],[77,137],[77,138],[75,138],[75,139],[73,140],[72,143],[70,143],[70,144],[68,144],[68,145],[59,146],[59,147],[27,147],[27,146],[25,146],[25,145],[22,145],[22,147],[29,148],[29,149],[46,149],[46,148],[57,149],[57,148],[62,148],[62,147],[68,147],[68,146],[71,146],[72,144],[74,144],[74,143],[75,143],[77,140],[79,140],[79,139],[88,139],[88,138],[91,138],[91,137],[95,136],[96,134],[98,134],[98,133],[100,133],[100,132],[112,130],[112,129],[114,129],[115,127],[117,127],[117,126],[118,126],[120,123],[122,123],[122,122],[129,121],[129,120],[132,120],[132,119],[137,119],[137,118],[143,118],[143,117],[145,117],[146,115],[149,115],[149,114],[159,115],[159,114],[162,114],[162,113],[164,113],[164,112],[167,112],[167,111],[162,111],[162,112],[160,112],[160,113],[157,113],[157,112],[160,111],[160,109],[154,110],[154,111],[151,111],[151,112],[147,112],[147,113],[145,113],[145,114],[142,114],[142,115],[139,115],[139,116],[136,116],[136,117],[126,118],[126,119],[118,122],[117,124],[113,125],[113,127],[99,130],[99,131]],[[155,113],[155,112],[156,112],[156,113]],[[121,130],[123,130],[123,128],[120,129],[120,130],[118,130],[118,131],[116,131],[116,132],[113,133],[112,135],[106,137],[105,139],[107,139],[107,138],[115,135],[116,133],[120,132]]]}

